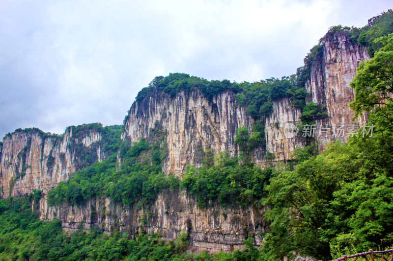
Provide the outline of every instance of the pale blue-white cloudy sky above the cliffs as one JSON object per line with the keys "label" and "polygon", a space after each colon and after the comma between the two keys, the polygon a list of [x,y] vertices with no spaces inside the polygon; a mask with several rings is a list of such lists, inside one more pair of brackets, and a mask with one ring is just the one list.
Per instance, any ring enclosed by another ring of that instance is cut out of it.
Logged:
{"label": "pale blue-white cloudy sky above the cliffs", "polygon": [[0,139],[121,124],[157,75],[290,75],[330,26],[362,27],[390,0],[0,0]]}

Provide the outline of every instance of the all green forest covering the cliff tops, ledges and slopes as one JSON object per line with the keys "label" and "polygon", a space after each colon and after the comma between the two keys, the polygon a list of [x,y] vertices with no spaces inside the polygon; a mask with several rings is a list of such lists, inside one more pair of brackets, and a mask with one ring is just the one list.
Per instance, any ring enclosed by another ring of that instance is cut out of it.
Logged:
{"label": "all green forest covering the cliff tops, ledges and slopes", "polygon": [[[154,138],[150,142],[131,143],[121,141],[121,127],[107,127],[112,155],[75,172],[48,192],[50,205],[110,197],[140,208],[153,202],[162,190],[186,190],[197,198],[199,208],[213,202],[269,206],[265,213],[269,231],[261,235],[259,249],[253,246],[252,237],[244,241],[244,251],[192,254],[186,252],[187,234],[168,242],[143,230],[135,238],[97,229],[68,234],[62,232],[58,219],[38,219],[41,192],[34,190],[29,196],[0,200],[0,260],[273,261],[292,258],[297,251],[327,261],[368,249],[393,248],[393,12],[370,19],[363,28],[334,26],[325,37],[337,31],[348,34],[370,54],[371,59],[360,64],[351,83],[355,100],[350,107],[356,115],[368,114],[372,136],[359,130],[348,142],[330,143],[320,154],[311,141],[294,151],[292,161],[277,166],[261,168],[250,161],[250,151],[264,139],[258,122],[269,115],[273,101],[289,97],[293,106],[302,109],[304,123],[326,117],[324,108],[306,104],[304,87],[312,62],[323,51],[322,38],[296,75],[231,83],[172,73],[156,77],[138,94],[137,102],[155,89],[172,96],[199,90],[209,99],[224,91],[235,93],[239,106],[245,106],[256,122],[251,133],[245,127],[237,130],[239,157],[203,151],[203,166],[188,166],[179,180],[162,172],[167,155],[165,130],[157,126],[151,130]],[[266,159],[273,160],[273,156],[267,154]]]}

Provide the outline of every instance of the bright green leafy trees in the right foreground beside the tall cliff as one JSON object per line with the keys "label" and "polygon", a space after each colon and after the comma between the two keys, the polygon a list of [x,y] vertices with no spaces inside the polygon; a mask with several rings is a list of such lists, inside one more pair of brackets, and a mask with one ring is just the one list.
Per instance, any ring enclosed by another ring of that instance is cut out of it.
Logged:
{"label": "bright green leafy trees in the right foreground beside the tall cliff", "polygon": [[[271,232],[263,256],[299,251],[329,260],[348,252],[393,246],[393,34],[361,64],[351,86],[356,113],[369,112],[372,137],[333,143],[318,156],[296,151],[300,164],[270,180],[265,201]],[[305,157],[306,156],[306,157]]]}

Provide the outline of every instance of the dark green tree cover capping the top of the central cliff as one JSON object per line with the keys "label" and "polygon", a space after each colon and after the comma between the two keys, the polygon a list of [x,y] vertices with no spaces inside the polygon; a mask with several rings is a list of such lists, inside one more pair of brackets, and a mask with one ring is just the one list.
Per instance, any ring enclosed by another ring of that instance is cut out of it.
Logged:
{"label": "dark green tree cover capping the top of the central cliff", "polygon": [[[136,100],[141,102],[146,95],[152,95],[154,89],[168,93],[171,96],[174,96],[181,91],[190,92],[194,89],[198,89],[209,99],[211,99],[214,95],[225,91],[239,93],[240,95],[237,96],[239,105],[247,106],[249,113],[254,118],[266,116],[271,112],[270,107],[267,105],[265,105],[265,108],[261,110],[260,107],[263,106],[264,103],[290,96],[300,100],[300,102],[297,102],[296,104],[299,103],[299,105],[301,105],[304,103],[306,95],[306,91],[303,86],[300,88],[296,84],[295,75],[282,77],[281,80],[270,78],[253,83],[231,83],[228,80],[208,81],[196,76],[190,76],[186,73],[169,73],[166,77],[155,77],[148,87],[143,88],[140,91]],[[299,89],[302,90],[298,91]]]}

